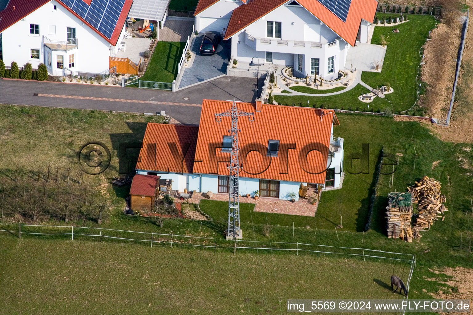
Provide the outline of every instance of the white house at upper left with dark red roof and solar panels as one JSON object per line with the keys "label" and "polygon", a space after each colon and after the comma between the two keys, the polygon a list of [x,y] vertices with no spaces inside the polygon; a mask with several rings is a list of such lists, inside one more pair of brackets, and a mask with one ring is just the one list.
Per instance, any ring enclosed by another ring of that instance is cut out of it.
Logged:
{"label": "white house at upper left with dark red roof and solar panels", "polygon": [[[9,0],[0,8],[2,59],[44,63],[54,76],[100,73],[119,50],[132,0]],[[66,72],[66,73],[65,73]]]}

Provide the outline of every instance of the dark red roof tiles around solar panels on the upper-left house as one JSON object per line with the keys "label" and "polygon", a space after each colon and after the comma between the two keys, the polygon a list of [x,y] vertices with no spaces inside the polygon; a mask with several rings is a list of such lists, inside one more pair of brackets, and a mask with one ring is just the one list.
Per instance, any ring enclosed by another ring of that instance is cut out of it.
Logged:
{"label": "dark red roof tiles around solar panels on the upper-left house", "polygon": [[[34,12],[35,10],[39,9],[44,4],[50,1],[51,0],[10,0],[7,7],[0,12],[0,32],[9,28],[13,24],[21,20],[23,17],[26,17],[28,14]],[[79,18],[80,21],[92,28],[97,34],[102,36],[107,42],[111,43],[114,46],[119,40],[123,26],[125,25],[126,17],[128,15],[128,12],[130,12],[131,5],[133,4],[133,0],[125,0],[120,16],[118,17],[117,24],[115,25],[112,37],[109,39],[104,34],[100,33],[94,26],[90,25],[85,19],[83,19],[72,9],[70,9],[66,4],[62,3],[61,0],[57,0],[57,2],[61,4],[64,8],[68,9],[72,14]],[[13,7],[15,7],[15,9],[13,9]]]}

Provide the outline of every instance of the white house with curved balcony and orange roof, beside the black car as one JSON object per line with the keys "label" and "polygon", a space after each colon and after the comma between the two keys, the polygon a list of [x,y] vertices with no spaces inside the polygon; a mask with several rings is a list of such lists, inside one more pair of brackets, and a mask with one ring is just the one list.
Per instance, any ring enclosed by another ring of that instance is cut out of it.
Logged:
{"label": "white house with curved balcony and orange roof, beside the black car", "polygon": [[[293,67],[295,77],[336,79],[348,51],[366,43],[377,0],[199,0],[198,32],[219,31],[231,40],[238,62]],[[256,60],[254,60],[256,61]]]}

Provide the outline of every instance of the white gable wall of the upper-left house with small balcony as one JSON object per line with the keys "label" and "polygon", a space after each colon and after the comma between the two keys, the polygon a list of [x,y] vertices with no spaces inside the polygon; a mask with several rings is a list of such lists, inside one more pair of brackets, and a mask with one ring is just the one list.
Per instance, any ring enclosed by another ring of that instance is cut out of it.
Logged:
{"label": "white gable wall of the upper-left house with small balcony", "polygon": [[[56,6],[56,10],[53,6]],[[39,25],[39,34],[30,34],[30,24]],[[44,46],[44,36],[52,41],[65,42],[67,27],[76,28],[77,48],[51,51]],[[111,44],[54,0],[4,30],[2,41],[3,61],[7,66],[12,61],[16,61],[20,68],[26,62],[31,63],[33,68],[44,63],[50,74],[62,75],[63,70],[57,68],[57,56],[63,56],[63,66],[69,68],[71,54],[74,54],[74,67],[70,69],[74,71],[99,73],[108,69],[109,65]],[[31,58],[31,49],[40,51],[39,59]],[[50,66],[48,51],[52,53]]]}

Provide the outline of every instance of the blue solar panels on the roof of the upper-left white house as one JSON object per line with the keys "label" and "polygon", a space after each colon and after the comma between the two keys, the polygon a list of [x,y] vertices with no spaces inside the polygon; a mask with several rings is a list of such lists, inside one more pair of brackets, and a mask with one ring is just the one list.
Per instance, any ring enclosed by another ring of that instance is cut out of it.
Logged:
{"label": "blue solar panels on the roof of the upper-left white house", "polygon": [[83,0],[61,1],[108,39],[112,38],[125,3],[125,0],[92,0],[89,6]]}

